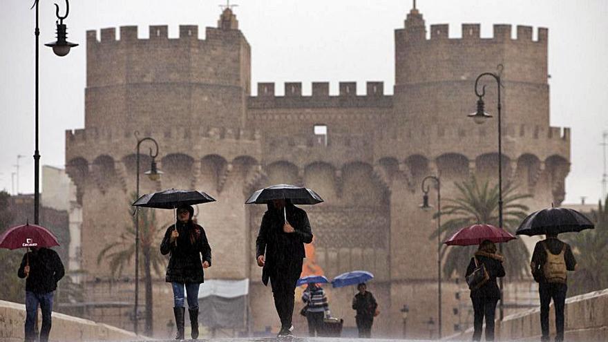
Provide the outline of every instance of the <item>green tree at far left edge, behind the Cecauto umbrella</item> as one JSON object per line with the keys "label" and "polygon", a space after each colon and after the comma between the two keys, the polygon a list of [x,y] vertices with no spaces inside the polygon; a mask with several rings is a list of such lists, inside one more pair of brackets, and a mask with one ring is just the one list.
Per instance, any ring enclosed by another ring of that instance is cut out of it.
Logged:
{"label": "green tree at far left edge, behind the Cecauto umbrella", "polygon": [[[10,194],[6,191],[0,191],[0,234],[2,234],[15,219],[15,214],[10,211],[9,207]],[[26,293],[25,280],[17,276],[17,269],[21,265],[25,249],[17,249],[10,251],[8,249],[0,249],[0,299],[4,301],[22,302],[23,295]]]}

